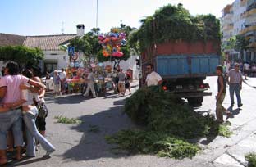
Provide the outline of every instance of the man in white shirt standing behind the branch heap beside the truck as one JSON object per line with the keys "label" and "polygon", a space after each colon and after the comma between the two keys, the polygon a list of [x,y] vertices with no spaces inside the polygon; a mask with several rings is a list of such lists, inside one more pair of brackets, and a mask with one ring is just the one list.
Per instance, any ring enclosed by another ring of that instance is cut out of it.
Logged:
{"label": "man in white shirt standing behind the branch heap beside the truck", "polygon": [[146,85],[148,87],[162,84],[162,77],[154,71],[153,64],[147,65],[147,73]]}

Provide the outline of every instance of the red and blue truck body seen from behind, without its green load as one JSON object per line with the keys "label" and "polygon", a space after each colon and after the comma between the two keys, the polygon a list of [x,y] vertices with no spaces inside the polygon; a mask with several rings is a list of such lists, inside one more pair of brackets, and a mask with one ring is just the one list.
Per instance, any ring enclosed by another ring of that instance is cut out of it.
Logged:
{"label": "red and blue truck body seen from behind, without its green load", "polygon": [[144,86],[146,66],[151,63],[162,76],[162,88],[176,97],[186,98],[191,105],[200,106],[204,96],[211,96],[207,76],[215,75],[220,65],[221,47],[218,41],[173,41],[158,43],[141,54],[139,85]]}

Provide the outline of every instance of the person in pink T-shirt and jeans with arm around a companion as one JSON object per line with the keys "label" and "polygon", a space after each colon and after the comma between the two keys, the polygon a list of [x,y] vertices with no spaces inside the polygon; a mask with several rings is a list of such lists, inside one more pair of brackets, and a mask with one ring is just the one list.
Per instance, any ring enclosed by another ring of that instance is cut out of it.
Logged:
{"label": "person in pink T-shirt and jeans with arm around a companion", "polygon": [[[21,160],[21,147],[23,146],[21,126],[21,83],[30,83],[39,88],[46,88],[43,83],[35,82],[19,74],[19,66],[16,62],[10,61],[4,71],[5,76],[0,79],[0,98],[2,104],[9,110],[0,113],[0,165],[7,164],[7,133],[12,129],[14,144],[16,147],[16,160]],[[30,87],[30,90],[34,88]]]}

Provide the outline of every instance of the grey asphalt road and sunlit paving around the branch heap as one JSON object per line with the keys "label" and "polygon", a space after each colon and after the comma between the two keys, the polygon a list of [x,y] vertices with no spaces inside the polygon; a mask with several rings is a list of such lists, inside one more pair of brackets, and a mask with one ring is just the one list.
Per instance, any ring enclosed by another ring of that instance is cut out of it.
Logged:
{"label": "grey asphalt road and sunlit paving around the branch heap", "polygon": [[[209,77],[212,97],[205,97],[199,112],[214,113],[217,78]],[[109,95],[95,99],[85,99],[80,95],[47,97],[49,114],[47,118],[47,138],[57,148],[49,159],[42,158],[45,151],[40,147],[37,156],[21,162],[11,162],[10,166],[85,166],[85,167],[179,167],[179,166],[244,166],[246,152],[256,151],[256,79],[244,84],[241,92],[244,106],[241,110],[234,107],[234,115],[229,119],[234,134],[231,138],[217,137],[213,142],[202,139],[201,151],[192,160],[172,160],[146,155],[128,155],[124,151],[115,154],[112,146],[105,142],[106,135],[116,133],[120,129],[135,127],[123,114],[122,106],[126,97]],[[134,83],[136,84],[136,83]],[[228,89],[228,88],[227,88]],[[136,88],[133,88],[133,92]],[[230,105],[228,93],[224,106]],[[81,124],[57,124],[55,116],[63,115],[78,118]],[[98,132],[90,132],[92,129]]]}

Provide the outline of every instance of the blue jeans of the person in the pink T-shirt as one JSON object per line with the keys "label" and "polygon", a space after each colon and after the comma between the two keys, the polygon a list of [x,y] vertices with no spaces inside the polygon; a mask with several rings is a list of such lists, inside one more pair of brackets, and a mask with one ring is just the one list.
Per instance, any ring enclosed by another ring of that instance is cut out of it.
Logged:
{"label": "blue jeans of the person in the pink T-shirt", "polygon": [[0,150],[7,149],[7,133],[10,129],[15,147],[23,146],[21,109],[0,113]]}

